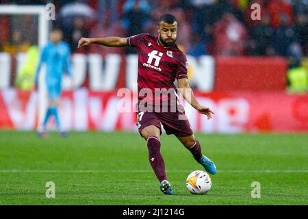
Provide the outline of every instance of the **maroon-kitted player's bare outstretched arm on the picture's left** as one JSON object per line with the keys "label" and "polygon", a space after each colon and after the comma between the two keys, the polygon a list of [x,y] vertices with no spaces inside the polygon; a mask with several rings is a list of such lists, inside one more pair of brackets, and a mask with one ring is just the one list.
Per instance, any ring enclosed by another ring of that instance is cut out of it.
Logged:
{"label": "maroon-kitted player's bare outstretched arm on the picture's left", "polygon": [[78,49],[88,47],[90,44],[101,44],[105,47],[125,47],[127,46],[127,38],[117,36],[105,38],[81,38],[78,42]]}

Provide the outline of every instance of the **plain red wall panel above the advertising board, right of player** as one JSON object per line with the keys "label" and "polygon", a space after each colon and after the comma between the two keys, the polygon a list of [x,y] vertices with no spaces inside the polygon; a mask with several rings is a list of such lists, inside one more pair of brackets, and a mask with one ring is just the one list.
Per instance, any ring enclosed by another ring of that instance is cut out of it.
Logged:
{"label": "plain red wall panel above the advertising board, right of player", "polygon": [[214,90],[285,90],[287,60],[282,57],[216,57]]}

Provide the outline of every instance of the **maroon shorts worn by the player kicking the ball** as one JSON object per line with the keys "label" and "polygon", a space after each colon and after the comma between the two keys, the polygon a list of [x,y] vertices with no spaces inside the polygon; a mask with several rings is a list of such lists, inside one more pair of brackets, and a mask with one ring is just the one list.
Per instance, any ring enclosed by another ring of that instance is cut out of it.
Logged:
{"label": "maroon shorts worn by the player kicking the ball", "polygon": [[138,112],[137,114],[137,127],[140,135],[142,129],[149,125],[159,128],[162,134],[161,124],[167,135],[187,137],[193,134],[185,112]]}

